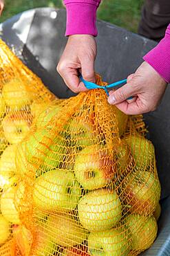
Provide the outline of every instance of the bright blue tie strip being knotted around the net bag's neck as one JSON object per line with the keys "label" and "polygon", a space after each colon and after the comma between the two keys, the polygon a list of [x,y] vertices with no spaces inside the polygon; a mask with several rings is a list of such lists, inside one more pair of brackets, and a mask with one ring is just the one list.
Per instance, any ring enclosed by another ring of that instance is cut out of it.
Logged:
{"label": "bright blue tie strip being knotted around the net bag's neck", "polygon": [[[87,89],[89,89],[89,90],[90,89],[103,89],[103,90],[105,90],[107,96],[109,96],[109,92],[107,89],[114,88],[120,84],[125,84],[127,82],[127,79],[124,79],[124,80],[120,80],[118,82],[114,82],[113,84],[108,84],[106,86],[100,86],[98,84],[94,84],[93,82],[88,82],[88,81],[84,80],[82,75],[80,75],[80,79],[83,82],[83,84],[85,84],[85,87]],[[133,99],[133,97],[129,97],[127,100],[131,100],[131,99]]]}

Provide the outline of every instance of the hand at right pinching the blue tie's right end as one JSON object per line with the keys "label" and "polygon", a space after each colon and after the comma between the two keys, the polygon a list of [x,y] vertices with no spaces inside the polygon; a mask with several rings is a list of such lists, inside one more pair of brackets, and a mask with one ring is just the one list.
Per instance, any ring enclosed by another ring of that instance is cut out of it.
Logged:
{"label": "hand at right pinching the blue tie's right end", "polygon": [[[128,115],[156,110],[167,88],[167,82],[147,62],[130,75],[127,84],[109,92],[108,102]],[[134,96],[132,100],[127,100]]]}

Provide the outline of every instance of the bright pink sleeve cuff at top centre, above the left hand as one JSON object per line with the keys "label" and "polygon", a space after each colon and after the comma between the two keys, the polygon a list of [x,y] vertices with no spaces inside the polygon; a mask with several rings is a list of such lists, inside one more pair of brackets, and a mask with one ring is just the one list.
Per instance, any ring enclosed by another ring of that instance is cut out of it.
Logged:
{"label": "bright pink sleeve cuff at top centre, above the left hand", "polygon": [[96,10],[100,0],[64,0],[67,10],[65,35],[97,35]]}

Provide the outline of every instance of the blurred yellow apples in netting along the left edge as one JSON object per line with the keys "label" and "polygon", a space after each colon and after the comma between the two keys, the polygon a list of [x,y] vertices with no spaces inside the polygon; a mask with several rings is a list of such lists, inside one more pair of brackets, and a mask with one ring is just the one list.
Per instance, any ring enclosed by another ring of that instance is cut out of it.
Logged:
{"label": "blurred yellow apples in netting along the left edge", "polygon": [[[34,100],[28,85],[12,78],[0,93],[0,247],[12,237],[13,225],[21,223],[15,193],[20,181],[16,165],[19,143],[29,134],[37,113],[49,103]],[[41,107],[41,109],[39,109]]]}

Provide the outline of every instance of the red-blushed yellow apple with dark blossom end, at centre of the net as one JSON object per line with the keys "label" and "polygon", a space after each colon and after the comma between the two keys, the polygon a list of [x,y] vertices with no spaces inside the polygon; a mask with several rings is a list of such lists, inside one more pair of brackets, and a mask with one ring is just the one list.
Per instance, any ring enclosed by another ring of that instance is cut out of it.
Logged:
{"label": "red-blushed yellow apple with dark blossom end, at centre of the net", "polygon": [[116,170],[109,151],[105,147],[91,145],[76,157],[74,172],[83,188],[95,190],[109,184]]}

